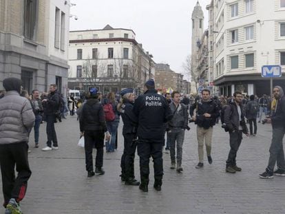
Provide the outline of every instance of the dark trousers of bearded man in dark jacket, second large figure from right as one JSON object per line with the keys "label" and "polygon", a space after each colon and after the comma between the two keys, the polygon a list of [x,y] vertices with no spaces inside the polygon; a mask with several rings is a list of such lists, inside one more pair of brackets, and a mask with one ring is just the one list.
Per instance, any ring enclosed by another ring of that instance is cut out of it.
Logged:
{"label": "dark trousers of bearded man in dark jacket, second large figure from right", "polygon": [[236,165],[237,150],[242,142],[242,131],[231,132],[229,136],[231,150],[229,151],[228,160],[226,160],[226,167],[234,167]]}

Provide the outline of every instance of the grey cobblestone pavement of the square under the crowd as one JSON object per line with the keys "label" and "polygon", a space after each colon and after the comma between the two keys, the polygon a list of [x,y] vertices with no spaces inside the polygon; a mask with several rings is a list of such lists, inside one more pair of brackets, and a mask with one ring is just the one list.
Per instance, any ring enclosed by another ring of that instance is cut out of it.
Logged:
{"label": "grey cobblestone pavement of the square under the crowd", "polygon": [[[122,125],[119,127],[119,133]],[[257,136],[242,140],[237,153],[241,172],[225,173],[229,152],[229,135],[216,125],[213,132],[213,164],[198,163],[196,126],[191,124],[184,140],[183,173],[169,169],[170,157],[164,153],[162,191],[157,192],[151,162],[149,192],[138,186],[120,182],[120,156],[123,139],[119,136],[118,150],[104,153],[105,175],[87,178],[83,148],[77,146],[76,116],[56,124],[58,151],[41,151],[45,147],[45,124],[41,125],[40,149],[30,138],[32,177],[28,192],[21,203],[25,214],[57,213],[285,213],[285,178],[262,180],[271,143],[271,126],[258,124]],[[136,157],[136,178],[138,157]],[[1,200],[3,195],[1,194]]]}

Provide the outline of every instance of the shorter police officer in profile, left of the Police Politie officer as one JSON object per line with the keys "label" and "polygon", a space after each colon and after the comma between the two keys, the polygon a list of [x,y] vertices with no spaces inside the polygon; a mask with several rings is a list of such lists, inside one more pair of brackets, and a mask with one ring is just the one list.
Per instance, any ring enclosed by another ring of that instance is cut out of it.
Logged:
{"label": "shorter police officer in profile, left of the Police Politie officer", "polygon": [[122,174],[121,180],[125,181],[126,185],[138,186],[140,182],[135,179],[134,176],[134,158],[136,153],[137,136],[136,131],[138,129],[138,118],[134,115],[134,89],[127,88],[120,92],[120,103],[118,104],[118,111],[124,122],[123,125],[123,137],[124,137],[124,151],[120,160],[120,167]]}

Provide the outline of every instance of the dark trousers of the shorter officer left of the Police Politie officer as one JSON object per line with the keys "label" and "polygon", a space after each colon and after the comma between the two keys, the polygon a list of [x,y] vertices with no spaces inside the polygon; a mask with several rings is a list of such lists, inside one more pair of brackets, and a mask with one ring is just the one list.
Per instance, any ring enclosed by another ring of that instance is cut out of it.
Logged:
{"label": "dark trousers of the shorter officer left of the Police Politie officer", "polygon": [[137,143],[133,141],[134,133],[125,133],[124,136],[124,152],[120,159],[120,168],[122,169],[122,178],[134,179],[134,157],[136,153]]}

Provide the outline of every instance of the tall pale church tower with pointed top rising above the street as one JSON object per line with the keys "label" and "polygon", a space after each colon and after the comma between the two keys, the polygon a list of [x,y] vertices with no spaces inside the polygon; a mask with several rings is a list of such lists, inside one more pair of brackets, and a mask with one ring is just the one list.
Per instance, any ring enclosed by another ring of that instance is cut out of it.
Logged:
{"label": "tall pale church tower with pointed top rising above the street", "polygon": [[[202,35],[204,33],[204,13],[200,6],[199,0],[196,3],[196,6],[192,12],[192,43],[191,43],[191,70],[197,72],[198,67],[198,49],[200,47]],[[196,75],[197,77],[198,75]],[[198,93],[196,91],[196,83],[193,81],[191,75],[191,93]]]}

